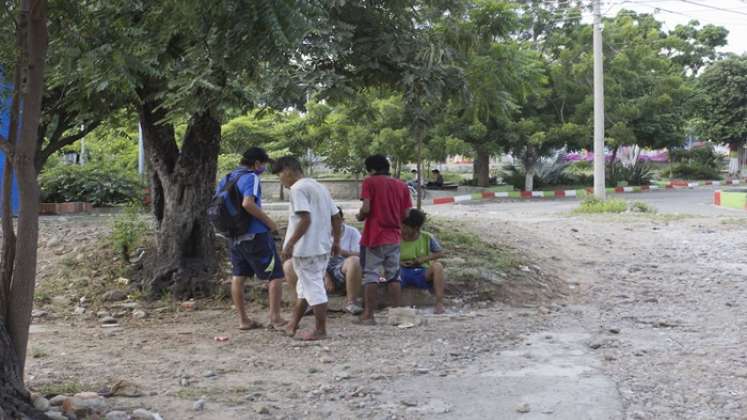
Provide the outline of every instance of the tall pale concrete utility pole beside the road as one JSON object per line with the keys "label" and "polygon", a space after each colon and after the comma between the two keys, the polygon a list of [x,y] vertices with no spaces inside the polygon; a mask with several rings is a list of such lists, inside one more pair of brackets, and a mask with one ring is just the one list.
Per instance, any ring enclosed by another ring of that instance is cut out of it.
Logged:
{"label": "tall pale concrete utility pole beside the road", "polygon": [[604,68],[602,57],[602,11],[594,2],[594,197],[604,200]]}

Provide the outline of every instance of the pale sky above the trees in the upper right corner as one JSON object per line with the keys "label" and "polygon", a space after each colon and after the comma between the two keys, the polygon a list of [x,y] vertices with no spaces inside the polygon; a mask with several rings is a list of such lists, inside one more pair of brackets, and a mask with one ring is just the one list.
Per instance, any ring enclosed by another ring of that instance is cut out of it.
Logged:
{"label": "pale sky above the trees in the upper right corner", "polygon": [[664,22],[665,30],[692,19],[701,25],[723,26],[729,30],[729,44],[721,51],[747,53],[747,0],[602,0],[605,16],[614,16],[623,8],[653,13]]}

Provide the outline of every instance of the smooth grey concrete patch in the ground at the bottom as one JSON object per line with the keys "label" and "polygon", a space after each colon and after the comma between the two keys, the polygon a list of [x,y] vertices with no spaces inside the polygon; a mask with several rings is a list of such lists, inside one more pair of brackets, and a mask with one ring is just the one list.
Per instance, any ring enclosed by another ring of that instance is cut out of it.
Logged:
{"label": "smooth grey concrete patch in the ground at the bottom", "polygon": [[411,410],[429,418],[622,419],[617,388],[602,373],[590,339],[580,327],[533,334],[525,345],[480,359],[456,375],[395,381],[391,398],[439,407]]}

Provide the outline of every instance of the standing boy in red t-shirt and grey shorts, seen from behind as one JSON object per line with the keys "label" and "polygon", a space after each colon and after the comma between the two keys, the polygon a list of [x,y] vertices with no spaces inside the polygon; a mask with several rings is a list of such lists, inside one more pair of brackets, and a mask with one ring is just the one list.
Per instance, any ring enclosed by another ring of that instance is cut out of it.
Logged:
{"label": "standing boy in red t-shirt and grey shorts, seen from behind", "polygon": [[376,288],[383,271],[389,298],[399,306],[402,290],[399,280],[400,228],[407,210],[412,207],[410,191],[402,181],[389,176],[389,161],[383,155],[366,158],[369,176],[361,186],[363,205],[356,215],[366,221],[361,238],[364,310],[358,323],[374,325]]}

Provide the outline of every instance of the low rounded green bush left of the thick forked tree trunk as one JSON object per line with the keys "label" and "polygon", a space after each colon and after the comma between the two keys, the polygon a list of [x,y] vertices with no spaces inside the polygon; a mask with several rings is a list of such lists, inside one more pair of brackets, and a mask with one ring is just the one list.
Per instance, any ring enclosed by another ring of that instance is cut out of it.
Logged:
{"label": "low rounded green bush left of the thick forked tree trunk", "polygon": [[126,203],[142,198],[137,175],[104,163],[57,165],[46,168],[40,178],[42,201],[84,201],[94,206]]}

